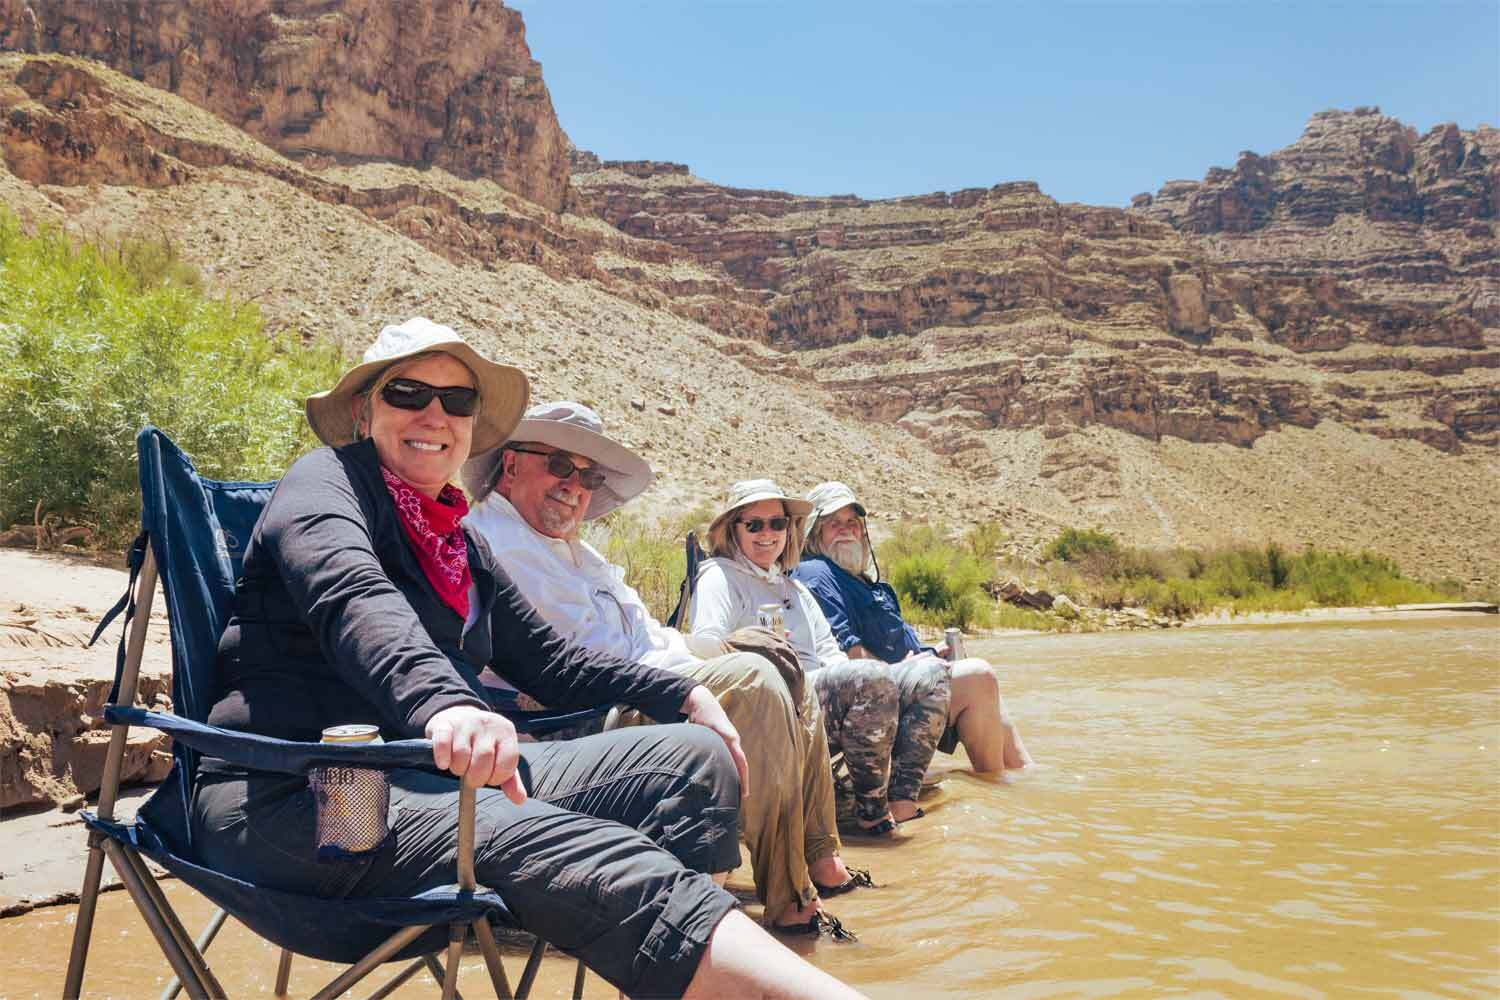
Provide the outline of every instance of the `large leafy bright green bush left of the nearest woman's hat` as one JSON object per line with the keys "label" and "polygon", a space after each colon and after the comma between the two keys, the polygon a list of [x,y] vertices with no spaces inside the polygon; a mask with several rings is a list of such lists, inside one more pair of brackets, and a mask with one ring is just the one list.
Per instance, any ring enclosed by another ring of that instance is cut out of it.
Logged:
{"label": "large leafy bright green bush left of the nearest woman's hat", "polygon": [[135,531],[135,433],[153,423],[207,475],[272,478],[315,444],[302,399],[332,348],[267,336],[254,304],[208,298],[170,246],[75,244],[0,210],[0,525],[42,511]]}

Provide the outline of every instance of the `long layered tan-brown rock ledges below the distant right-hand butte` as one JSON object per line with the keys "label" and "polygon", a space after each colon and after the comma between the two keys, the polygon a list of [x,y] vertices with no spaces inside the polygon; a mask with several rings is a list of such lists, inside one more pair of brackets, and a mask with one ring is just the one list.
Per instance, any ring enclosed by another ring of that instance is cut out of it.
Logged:
{"label": "long layered tan-brown rock ledges below the distant right-hand butte", "polygon": [[[1485,160],[1464,162],[1468,190]],[[1335,420],[1446,451],[1500,435],[1479,291],[1395,300],[1334,268],[1257,271],[1162,208],[1060,205],[1024,181],[870,202],[720,187],[675,163],[576,165],[604,217],[760,289],[771,346],[945,453],[1036,426],[1248,445]],[[1310,186],[1302,204],[1334,201]],[[1462,204],[1488,213],[1466,232],[1492,228],[1486,198]],[[1488,273],[1482,258],[1464,256],[1466,276]]]}

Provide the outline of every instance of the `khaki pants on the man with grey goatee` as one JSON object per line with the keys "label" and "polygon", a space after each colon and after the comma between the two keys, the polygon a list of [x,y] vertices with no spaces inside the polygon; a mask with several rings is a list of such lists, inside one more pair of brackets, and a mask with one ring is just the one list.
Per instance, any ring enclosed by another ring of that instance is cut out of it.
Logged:
{"label": "khaki pants on the man with grey goatee", "polygon": [[[740,730],[750,762],[750,795],[740,804],[740,838],[750,849],[756,895],[766,919],[812,903],[807,865],[838,853],[828,736],[812,684],[802,703],[776,667],[748,652],[702,660],[678,670],[714,693]],[[644,720],[626,712],[626,724]]]}

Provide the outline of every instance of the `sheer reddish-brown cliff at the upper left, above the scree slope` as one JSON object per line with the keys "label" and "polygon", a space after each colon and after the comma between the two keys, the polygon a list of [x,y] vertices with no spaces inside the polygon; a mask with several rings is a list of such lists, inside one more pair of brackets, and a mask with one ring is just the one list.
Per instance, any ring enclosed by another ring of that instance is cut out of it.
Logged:
{"label": "sheer reddish-brown cliff at the upper left, above the scree slope", "polygon": [[568,205],[567,136],[498,0],[0,0],[0,48],[99,60],[288,156],[430,163]]}

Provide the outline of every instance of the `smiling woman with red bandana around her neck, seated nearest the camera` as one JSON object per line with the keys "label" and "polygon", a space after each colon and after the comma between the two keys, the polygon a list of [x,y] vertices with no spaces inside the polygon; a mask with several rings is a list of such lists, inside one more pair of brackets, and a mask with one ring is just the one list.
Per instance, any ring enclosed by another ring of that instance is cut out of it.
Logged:
{"label": "smiling woman with red bandana around her neck, seated nearest the camera", "polygon": [[[526,396],[518,369],[412,319],[381,330],[360,364],[308,400],[332,447],[288,469],[255,526],[208,721],[314,742],[328,726],[369,723],[387,739],[430,739],[448,774],[390,772],[392,835],[330,864],[304,778],[206,759],[195,849],[270,888],[420,894],[453,882],[459,780],[496,786],[477,799],[478,880],[624,993],[765,991],[700,963],[710,942],[756,976],[807,975],[711,877],[740,861],[740,738],[718,702],[690,679],[562,642],[460,523],[468,504],[453,478],[471,448],[512,432]],[[558,711],[624,702],[698,724],[522,747],[483,697],[484,667]]]}

